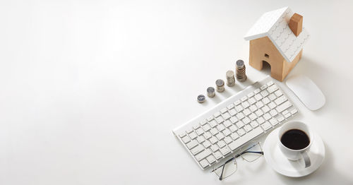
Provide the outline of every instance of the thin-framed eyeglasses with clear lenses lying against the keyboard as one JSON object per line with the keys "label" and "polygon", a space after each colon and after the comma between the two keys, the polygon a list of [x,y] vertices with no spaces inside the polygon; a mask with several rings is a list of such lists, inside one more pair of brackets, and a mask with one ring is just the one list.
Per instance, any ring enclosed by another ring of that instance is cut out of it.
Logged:
{"label": "thin-framed eyeglasses with clear lenses lying against the keyboard", "polygon": [[234,155],[229,160],[227,160],[225,164],[213,168],[211,172],[215,172],[215,174],[220,177],[220,181],[237,172],[237,157],[240,156],[246,162],[253,162],[263,155],[263,149],[261,148],[261,145],[258,142],[251,142],[249,145],[246,145],[246,147],[241,148],[240,151],[243,152]]}

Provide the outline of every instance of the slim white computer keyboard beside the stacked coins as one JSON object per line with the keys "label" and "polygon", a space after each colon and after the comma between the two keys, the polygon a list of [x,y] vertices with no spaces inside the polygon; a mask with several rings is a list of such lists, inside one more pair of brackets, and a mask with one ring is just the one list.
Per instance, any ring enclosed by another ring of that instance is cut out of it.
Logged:
{"label": "slim white computer keyboard beside the stacked coins", "polygon": [[267,76],[173,133],[199,167],[206,169],[297,112],[273,78]]}

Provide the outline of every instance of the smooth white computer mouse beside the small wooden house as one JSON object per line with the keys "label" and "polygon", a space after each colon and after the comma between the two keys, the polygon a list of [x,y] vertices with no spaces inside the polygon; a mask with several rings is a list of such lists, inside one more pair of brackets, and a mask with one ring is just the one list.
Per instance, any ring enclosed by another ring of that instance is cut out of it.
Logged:
{"label": "smooth white computer mouse beside the small wooden house", "polygon": [[293,76],[286,84],[308,109],[317,110],[325,105],[323,92],[310,78],[304,75]]}

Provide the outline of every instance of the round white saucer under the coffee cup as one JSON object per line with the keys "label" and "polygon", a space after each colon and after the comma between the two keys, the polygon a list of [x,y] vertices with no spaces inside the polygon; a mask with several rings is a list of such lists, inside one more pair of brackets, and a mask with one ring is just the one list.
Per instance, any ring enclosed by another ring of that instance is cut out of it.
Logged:
{"label": "round white saucer under the coffee cup", "polygon": [[304,168],[303,160],[290,161],[280,151],[277,140],[279,129],[272,131],[263,144],[263,155],[268,165],[275,169],[276,172],[287,177],[303,177],[311,174],[321,166],[325,158],[325,146],[317,133],[314,132],[314,141],[308,153],[311,166]]}

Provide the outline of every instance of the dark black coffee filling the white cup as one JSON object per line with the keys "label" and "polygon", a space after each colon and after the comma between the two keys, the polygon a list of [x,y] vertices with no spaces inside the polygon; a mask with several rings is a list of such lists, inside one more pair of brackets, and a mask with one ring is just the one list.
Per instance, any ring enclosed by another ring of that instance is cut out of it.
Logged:
{"label": "dark black coffee filling the white cup", "polygon": [[309,145],[310,139],[304,131],[292,129],[283,133],[281,142],[287,148],[292,150],[301,150]]}

